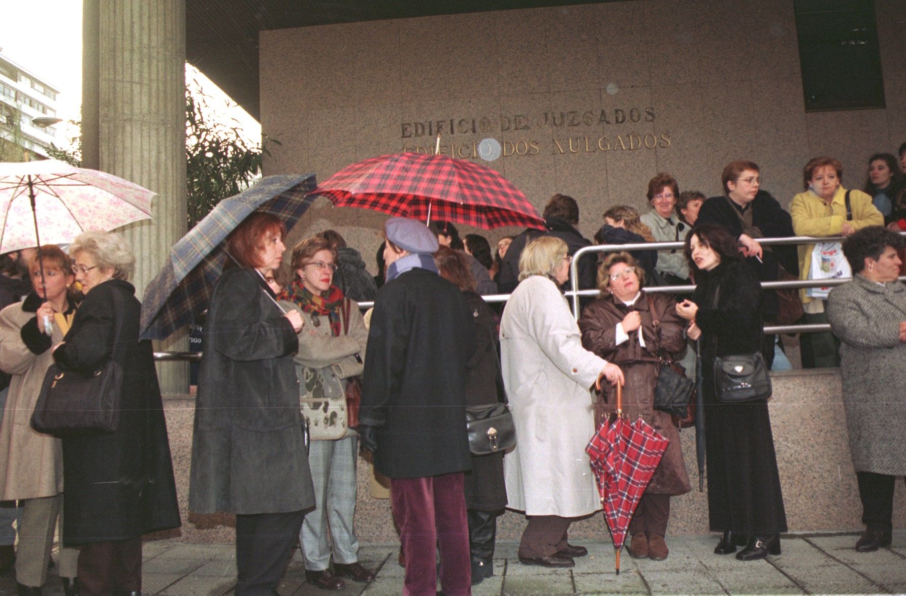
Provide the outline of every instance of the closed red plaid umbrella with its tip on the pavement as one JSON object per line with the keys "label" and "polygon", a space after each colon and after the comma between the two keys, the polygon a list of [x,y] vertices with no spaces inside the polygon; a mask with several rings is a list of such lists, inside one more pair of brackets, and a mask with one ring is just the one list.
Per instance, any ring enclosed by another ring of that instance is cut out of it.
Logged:
{"label": "closed red plaid umbrella with its tip on the pavement", "polygon": [[634,422],[622,417],[622,385],[617,385],[616,418],[602,422],[585,451],[598,481],[604,519],[611,528],[618,575],[632,513],[669,443],[641,416]]}

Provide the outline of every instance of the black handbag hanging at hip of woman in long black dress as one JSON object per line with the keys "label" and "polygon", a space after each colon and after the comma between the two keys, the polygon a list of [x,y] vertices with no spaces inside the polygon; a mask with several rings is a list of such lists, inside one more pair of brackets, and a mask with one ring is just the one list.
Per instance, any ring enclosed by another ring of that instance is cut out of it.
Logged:
{"label": "black handbag hanging at hip of woman in long black dress", "polygon": [[[718,306],[720,287],[714,293],[714,307]],[[761,321],[758,322],[756,345],[761,343]],[[771,397],[771,375],[767,371],[761,351],[752,354],[718,356],[717,335],[714,338],[714,394],[725,404],[745,403]]]}

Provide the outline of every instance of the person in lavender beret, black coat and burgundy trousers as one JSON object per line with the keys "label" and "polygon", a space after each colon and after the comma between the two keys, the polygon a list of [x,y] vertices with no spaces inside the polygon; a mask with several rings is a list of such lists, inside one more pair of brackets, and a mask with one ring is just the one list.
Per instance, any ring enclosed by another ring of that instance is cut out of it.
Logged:
{"label": "person in lavender beret, black coat and burgundy trousers", "polygon": [[438,239],[414,219],[384,226],[387,281],[371,314],[359,435],[390,478],[390,505],[406,560],[404,594],[470,591],[463,473],[466,365],[476,348],[472,312],[440,277]]}

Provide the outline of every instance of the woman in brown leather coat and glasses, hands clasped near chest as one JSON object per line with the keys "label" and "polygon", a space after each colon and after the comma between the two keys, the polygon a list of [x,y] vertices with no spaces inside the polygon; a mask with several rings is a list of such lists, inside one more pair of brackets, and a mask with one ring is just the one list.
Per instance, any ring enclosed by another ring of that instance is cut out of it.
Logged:
{"label": "woman in brown leather coat and glasses, hands clasped near chest", "polygon": [[[672,355],[686,346],[685,323],[676,302],[666,293],[645,293],[645,272],[629,253],[608,255],[598,267],[602,298],[589,304],[579,320],[586,350],[618,365],[626,379],[623,413],[630,420],[641,416],[670,440],[660,465],[641,495],[629,524],[630,556],[663,561],[669,553],[664,534],[670,517],[670,496],[689,492],[689,475],[679,447],[679,429],[670,414],[654,409],[660,355]],[[605,414],[615,410],[616,391],[604,390]]]}

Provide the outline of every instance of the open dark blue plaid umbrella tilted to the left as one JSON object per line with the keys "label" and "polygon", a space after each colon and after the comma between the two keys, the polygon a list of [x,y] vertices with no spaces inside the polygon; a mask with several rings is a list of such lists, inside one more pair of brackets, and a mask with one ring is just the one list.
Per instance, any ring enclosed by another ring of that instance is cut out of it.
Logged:
{"label": "open dark blue plaid umbrella tilted to the left", "polygon": [[280,217],[292,229],[311,206],[306,198],[314,174],[261,178],[254,187],[225,198],[173,245],[169,261],[151,280],[141,305],[141,338],[163,340],[207,309],[226,260],[224,240],[254,211]]}

